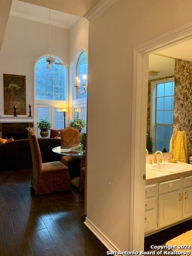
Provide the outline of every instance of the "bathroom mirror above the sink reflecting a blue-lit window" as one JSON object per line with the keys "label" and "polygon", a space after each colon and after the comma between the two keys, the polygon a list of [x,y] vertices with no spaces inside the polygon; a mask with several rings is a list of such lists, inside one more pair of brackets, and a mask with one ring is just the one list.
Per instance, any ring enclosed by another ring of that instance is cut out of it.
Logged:
{"label": "bathroom mirror above the sink reflecting a blue-lit window", "polygon": [[[163,151],[163,149],[169,151],[173,127],[174,72],[174,58],[159,54],[149,55],[147,107],[147,149],[149,153],[155,150]],[[156,120],[159,120],[157,123],[162,124],[157,125]]]}

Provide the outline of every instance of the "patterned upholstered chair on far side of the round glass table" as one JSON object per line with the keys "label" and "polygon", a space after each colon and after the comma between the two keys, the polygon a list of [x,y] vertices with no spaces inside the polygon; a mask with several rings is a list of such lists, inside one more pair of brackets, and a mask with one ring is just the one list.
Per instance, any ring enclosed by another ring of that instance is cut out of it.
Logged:
{"label": "patterned upholstered chair on far side of the round glass table", "polygon": [[[80,143],[80,133],[74,127],[68,126],[61,130],[61,146],[75,146]],[[61,162],[68,166],[70,179],[79,177],[81,156],[62,156]]]}

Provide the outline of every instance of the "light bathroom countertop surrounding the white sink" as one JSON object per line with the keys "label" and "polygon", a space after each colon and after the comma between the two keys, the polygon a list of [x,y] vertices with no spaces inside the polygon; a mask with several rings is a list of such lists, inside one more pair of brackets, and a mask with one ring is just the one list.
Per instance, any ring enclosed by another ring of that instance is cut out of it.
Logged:
{"label": "light bathroom countertop surrounding the white sink", "polygon": [[[167,161],[162,161],[162,163],[167,163]],[[151,170],[149,168],[150,164],[146,164],[146,185],[151,185],[158,182],[163,182],[166,180],[178,179],[180,177],[186,177],[192,175],[192,165],[186,164],[182,162],[178,162],[177,164],[184,167],[186,170],[179,172],[164,172],[164,171],[156,171]]]}

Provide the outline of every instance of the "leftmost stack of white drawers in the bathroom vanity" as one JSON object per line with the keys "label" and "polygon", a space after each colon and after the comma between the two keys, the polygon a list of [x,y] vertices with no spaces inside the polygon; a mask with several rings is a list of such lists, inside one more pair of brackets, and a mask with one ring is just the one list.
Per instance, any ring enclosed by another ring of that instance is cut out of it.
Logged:
{"label": "leftmost stack of white drawers in the bathroom vanity", "polygon": [[148,233],[157,229],[158,183],[146,186],[145,198],[145,233]]}

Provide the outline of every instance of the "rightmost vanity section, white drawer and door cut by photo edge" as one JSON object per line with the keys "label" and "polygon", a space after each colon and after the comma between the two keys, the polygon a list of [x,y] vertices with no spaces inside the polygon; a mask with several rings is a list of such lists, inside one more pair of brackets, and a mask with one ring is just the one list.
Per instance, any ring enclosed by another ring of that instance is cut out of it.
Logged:
{"label": "rightmost vanity section, white drawer and door cut by photo edge", "polygon": [[183,177],[183,212],[182,217],[192,216],[192,176]]}

